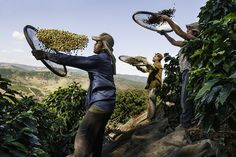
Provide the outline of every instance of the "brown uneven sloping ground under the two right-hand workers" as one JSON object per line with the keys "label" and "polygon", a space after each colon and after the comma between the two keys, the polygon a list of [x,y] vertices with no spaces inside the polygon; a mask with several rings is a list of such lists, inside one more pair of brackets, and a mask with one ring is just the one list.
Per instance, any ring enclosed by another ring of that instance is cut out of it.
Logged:
{"label": "brown uneven sloping ground under the two right-hand workers", "polygon": [[175,130],[168,118],[149,122],[146,113],[118,126],[109,136],[112,140],[104,145],[103,157],[236,156],[236,136],[232,132],[209,134],[197,127]]}

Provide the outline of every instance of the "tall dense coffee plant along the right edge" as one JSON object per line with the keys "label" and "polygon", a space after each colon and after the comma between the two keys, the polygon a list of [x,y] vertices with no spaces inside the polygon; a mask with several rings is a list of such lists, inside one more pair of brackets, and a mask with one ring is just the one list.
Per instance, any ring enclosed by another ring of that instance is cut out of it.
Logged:
{"label": "tall dense coffee plant along the right edge", "polygon": [[183,52],[190,58],[189,90],[207,131],[236,129],[236,1],[209,0],[199,13],[201,33]]}

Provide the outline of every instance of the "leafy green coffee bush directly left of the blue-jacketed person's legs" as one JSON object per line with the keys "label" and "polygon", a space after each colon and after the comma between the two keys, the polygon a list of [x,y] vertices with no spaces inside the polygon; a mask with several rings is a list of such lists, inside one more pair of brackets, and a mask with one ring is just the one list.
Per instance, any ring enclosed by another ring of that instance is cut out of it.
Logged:
{"label": "leafy green coffee bush directly left of the blue-jacketed person's legs", "polygon": [[[43,100],[44,108],[49,112],[44,118],[53,121],[50,133],[42,130],[46,135],[44,139],[49,139],[51,156],[63,157],[73,152],[75,134],[85,114],[85,98],[86,91],[74,82],[58,88]],[[41,126],[45,125],[43,119]]]}

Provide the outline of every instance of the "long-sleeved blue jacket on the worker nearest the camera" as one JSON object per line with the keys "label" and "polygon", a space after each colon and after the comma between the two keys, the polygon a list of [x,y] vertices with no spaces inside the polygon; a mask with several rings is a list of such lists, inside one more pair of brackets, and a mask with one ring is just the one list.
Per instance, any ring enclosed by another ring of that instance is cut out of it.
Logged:
{"label": "long-sleeved blue jacket on the worker nearest the camera", "polygon": [[86,107],[93,103],[104,111],[115,107],[116,88],[110,56],[104,51],[96,55],[83,57],[66,54],[47,53],[48,60],[58,64],[79,68],[88,72],[90,85],[86,98]]}

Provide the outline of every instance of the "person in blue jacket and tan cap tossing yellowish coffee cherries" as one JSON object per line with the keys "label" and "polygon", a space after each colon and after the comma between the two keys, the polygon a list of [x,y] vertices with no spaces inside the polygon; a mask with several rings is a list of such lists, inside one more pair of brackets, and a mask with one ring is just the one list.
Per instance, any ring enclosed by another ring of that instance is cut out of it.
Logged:
{"label": "person in blue jacket and tan cap tossing yellowish coffee cherries", "polygon": [[90,85],[86,98],[87,112],[77,131],[74,157],[101,157],[105,126],[115,107],[116,59],[113,37],[107,33],[93,36],[95,55],[83,57],[33,51],[36,59],[79,68],[88,72]]}

